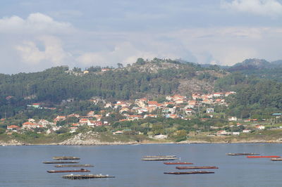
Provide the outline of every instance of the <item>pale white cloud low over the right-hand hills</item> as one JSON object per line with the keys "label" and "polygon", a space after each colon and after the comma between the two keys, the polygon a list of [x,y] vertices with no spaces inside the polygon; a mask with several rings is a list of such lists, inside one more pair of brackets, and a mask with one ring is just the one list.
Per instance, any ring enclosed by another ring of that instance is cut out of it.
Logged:
{"label": "pale white cloud low over the right-hand hills", "polygon": [[281,58],[276,51],[282,48],[280,27],[192,28],[169,35],[179,39],[200,63],[232,65],[245,58]]}

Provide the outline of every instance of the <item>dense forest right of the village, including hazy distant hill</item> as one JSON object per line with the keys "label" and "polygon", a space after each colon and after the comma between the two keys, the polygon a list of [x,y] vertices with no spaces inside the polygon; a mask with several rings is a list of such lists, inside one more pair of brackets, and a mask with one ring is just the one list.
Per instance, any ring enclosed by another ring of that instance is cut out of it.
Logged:
{"label": "dense forest right of the village, including hazy distant hill", "polygon": [[268,63],[259,60],[257,63],[257,59],[248,59],[244,62],[247,65],[242,63],[234,65],[236,68],[240,67],[240,70],[230,67],[231,74],[218,79],[214,86],[216,91],[236,91],[236,94],[229,98],[231,105],[228,113],[238,117],[255,115],[262,118],[264,114],[281,112],[282,67],[278,63],[280,61]]}

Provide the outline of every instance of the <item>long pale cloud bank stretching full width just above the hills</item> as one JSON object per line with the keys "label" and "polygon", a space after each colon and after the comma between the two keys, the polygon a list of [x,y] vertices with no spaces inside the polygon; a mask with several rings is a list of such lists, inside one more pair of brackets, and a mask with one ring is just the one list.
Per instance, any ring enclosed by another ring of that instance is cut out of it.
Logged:
{"label": "long pale cloud bank stretching full width just above the hills", "polygon": [[[239,1],[238,1],[239,2]],[[281,59],[282,27],[191,27],[183,30],[85,31],[42,13],[0,19],[2,72],[55,65],[134,63],[139,57],[232,65],[245,58]]]}

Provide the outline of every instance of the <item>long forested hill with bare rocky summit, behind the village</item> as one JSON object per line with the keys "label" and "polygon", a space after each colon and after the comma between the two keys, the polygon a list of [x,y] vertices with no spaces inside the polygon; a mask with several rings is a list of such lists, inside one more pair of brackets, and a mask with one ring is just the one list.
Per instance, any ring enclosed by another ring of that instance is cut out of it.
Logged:
{"label": "long forested hill with bare rocky summit, behind the village", "polygon": [[[176,60],[145,61],[118,68],[52,67],[43,72],[0,75],[1,105],[30,102],[61,102],[66,98],[130,99],[193,91],[212,91],[214,81],[226,75],[216,66],[200,67]],[[7,100],[7,97],[9,98]]]}

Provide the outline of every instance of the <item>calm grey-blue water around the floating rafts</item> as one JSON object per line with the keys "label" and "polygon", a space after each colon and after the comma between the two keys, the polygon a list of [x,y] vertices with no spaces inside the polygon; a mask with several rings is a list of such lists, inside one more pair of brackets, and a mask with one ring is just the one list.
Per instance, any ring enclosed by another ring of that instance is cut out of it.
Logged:
{"label": "calm grey-blue water around the floating rafts", "polygon": [[[226,155],[282,155],[281,148],[281,144],[267,143],[1,146],[0,186],[282,186],[282,162]],[[109,174],[116,178],[69,180],[62,179],[60,173],[47,173],[56,168],[42,162],[61,155],[80,157],[80,164],[94,165],[87,168],[91,174]],[[164,172],[180,171],[175,169],[176,165],[145,162],[141,160],[144,155],[177,155],[181,161],[193,162],[194,166],[219,169],[201,169],[214,174],[169,175]]]}

